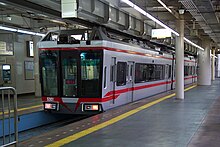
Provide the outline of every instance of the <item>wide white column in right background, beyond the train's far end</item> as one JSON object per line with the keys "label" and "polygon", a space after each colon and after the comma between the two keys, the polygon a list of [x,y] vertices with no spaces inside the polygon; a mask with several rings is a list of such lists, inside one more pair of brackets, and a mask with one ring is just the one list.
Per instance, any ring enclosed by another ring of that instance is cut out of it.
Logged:
{"label": "wide white column in right background, beyond the train's far end", "polygon": [[202,46],[205,50],[199,51],[198,85],[211,85],[210,43],[209,39],[204,39]]}

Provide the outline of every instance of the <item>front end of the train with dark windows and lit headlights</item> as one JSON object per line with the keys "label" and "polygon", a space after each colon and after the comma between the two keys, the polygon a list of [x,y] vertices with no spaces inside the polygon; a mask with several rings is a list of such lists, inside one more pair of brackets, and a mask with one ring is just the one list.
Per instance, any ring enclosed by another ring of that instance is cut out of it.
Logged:
{"label": "front end of the train with dark windows and lit headlights", "polygon": [[44,110],[65,114],[101,112],[103,51],[56,42],[39,43]]}

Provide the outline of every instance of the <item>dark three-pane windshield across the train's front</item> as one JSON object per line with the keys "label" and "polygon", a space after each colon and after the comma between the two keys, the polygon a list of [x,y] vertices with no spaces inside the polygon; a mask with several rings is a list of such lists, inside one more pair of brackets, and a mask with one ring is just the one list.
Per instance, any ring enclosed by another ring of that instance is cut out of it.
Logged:
{"label": "dark three-pane windshield across the train's front", "polygon": [[40,53],[43,96],[101,97],[102,51]]}

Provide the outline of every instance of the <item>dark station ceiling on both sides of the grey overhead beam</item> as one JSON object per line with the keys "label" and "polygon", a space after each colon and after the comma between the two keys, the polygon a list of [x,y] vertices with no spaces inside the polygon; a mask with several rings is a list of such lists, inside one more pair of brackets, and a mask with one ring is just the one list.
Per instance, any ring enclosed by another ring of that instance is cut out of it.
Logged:
{"label": "dark station ceiling on both sides of the grey overhead beam", "polygon": [[[103,0],[101,0],[103,1]],[[119,3],[120,0],[107,0]],[[219,0],[131,0],[169,27],[175,29],[178,10],[184,8],[185,36],[201,45],[210,38],[213,46],[220,47]],[[166,10],[162,1],[172,13]],[[119,5],[122,9],[129,7]],[[61,0],[0,0],[0,23],[31,30],[45,31],[54,27],[76,27],[74,21],[61,18]],[[151,23],[153,28],[158,26]]]}

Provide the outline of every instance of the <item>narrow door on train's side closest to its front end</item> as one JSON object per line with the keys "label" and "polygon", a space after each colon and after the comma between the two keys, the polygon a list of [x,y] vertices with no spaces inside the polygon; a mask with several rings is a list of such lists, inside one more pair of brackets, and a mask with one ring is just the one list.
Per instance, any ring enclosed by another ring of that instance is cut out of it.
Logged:
{"label": "narrow door on train's side closest to its front end", "polygon": [[115,104],[115,86],[116,86],[116,57],[111,58],[111,68],[110,68],[110,91],[112,91],[112,101],[111,104]]}

